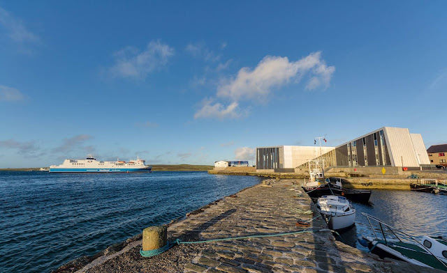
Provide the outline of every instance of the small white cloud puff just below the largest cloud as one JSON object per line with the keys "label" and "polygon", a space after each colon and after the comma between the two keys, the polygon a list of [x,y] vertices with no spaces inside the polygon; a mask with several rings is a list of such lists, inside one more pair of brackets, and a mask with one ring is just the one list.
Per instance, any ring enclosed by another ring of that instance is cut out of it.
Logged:
{"label": "small white cloud puff just below the largest cloud", "polygon": [[239,104],[231,102],[228,106],[213,100],[203,100],[202,108],[194,114],[194,118],[239,118],[241,116]]}

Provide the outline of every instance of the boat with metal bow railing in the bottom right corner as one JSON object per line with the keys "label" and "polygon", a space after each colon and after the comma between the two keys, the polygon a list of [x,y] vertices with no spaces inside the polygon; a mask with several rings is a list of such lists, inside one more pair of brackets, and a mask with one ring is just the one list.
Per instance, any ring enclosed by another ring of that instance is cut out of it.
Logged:
{"label": "boat with metal bow railing in the bottom right corner", "polygon": [[[363,247],[368,247],[370,252],[380,258],[404,260],[414,265],[447,271],[447,237],[423,236],[422,240],[418,241],[372,215],[365,212],[362,214],[367,217],[374,237],[364,236],[359,238],[358,242]],[[381,232],[381,237],[377,236],[376,231]]]}

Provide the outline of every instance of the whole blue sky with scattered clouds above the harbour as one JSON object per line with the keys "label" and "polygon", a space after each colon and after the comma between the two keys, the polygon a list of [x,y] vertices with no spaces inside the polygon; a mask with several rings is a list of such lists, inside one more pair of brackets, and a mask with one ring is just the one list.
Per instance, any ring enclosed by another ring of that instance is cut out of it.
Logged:
{"label": "whole blue sky with scattered clouds above the harbour", "polygon": [[[0,168],[447,143],[446,1],[0,0]],[[437,102],[437,103],[434,103]]]}

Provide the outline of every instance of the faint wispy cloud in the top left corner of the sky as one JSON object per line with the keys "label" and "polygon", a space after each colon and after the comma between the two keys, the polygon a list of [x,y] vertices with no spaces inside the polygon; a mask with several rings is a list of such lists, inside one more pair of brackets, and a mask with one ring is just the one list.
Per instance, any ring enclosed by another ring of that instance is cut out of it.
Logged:
{"label": "faint wispy cloud in the top left corner of the sky", "polygon": [[31,46],[41,42],[41,39],[29,31],[22,20],[11,15],[3,8],[0,8],[0,31],[18,46],[20,52],[32,53]]}

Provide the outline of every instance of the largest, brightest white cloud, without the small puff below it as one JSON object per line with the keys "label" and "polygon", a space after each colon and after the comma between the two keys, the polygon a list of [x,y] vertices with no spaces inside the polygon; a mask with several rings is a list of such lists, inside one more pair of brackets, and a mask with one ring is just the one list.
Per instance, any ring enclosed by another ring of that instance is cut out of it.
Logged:
{"label": "largest, brightest white cloud, without the small puff below it", "polygon": [[254,70],[241,68],[233,79],[223,81],[217,89],[217,96],[230,100],[264,100],[273,88],[288,84],[291,79],[300,81],[307,73],[311,79],[308,89],[319,86],[328,87],[335,71],[321,59],[321,52],[314,52],[298,61],[289,61],[287,57],[265,56]]}

